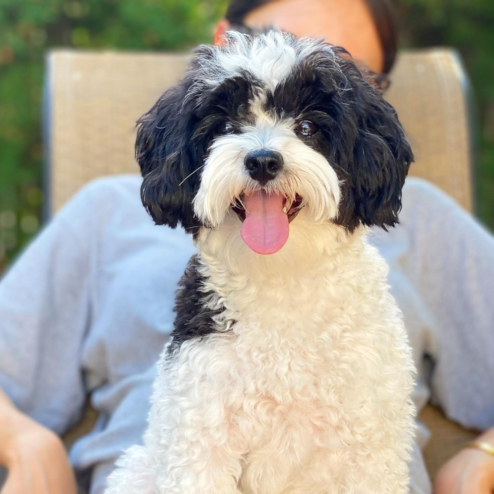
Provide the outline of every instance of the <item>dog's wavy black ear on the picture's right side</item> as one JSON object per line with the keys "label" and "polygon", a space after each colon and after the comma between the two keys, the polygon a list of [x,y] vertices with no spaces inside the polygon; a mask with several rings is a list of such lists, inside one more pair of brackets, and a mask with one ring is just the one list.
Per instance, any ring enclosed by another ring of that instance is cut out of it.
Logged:
{"label": "dog's wavy black ear on the picture's right side", "polygon": [[340,106],[341,114],[348,116],[346,109],[352,108],[352,117],[345,118],[338,138],[346,149],[340,151],[345,164],[337,221],[349,229],[359,223],[387,229],[398,222],[401,189],[413,154],[395,109],[381,91],[352,60],[342,59],[340,64],[347,79],[346,90],[340,92],[340,101],[347,105]]}

